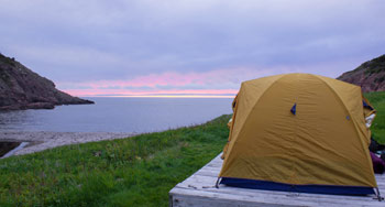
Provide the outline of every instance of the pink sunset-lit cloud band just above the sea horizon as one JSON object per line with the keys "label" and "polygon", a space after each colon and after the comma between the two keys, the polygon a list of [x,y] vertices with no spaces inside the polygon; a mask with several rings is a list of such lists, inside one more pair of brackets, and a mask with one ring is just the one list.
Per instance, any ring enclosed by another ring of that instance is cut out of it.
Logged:
{"label": "pink sunset-lit cloud band just above the sea horizon", "polygon": [[202,73],[150,74],[132,79],[59,83],[58,88],[74,96],[234,96],[248,79],[272,75],[271,69],[217,69]]}

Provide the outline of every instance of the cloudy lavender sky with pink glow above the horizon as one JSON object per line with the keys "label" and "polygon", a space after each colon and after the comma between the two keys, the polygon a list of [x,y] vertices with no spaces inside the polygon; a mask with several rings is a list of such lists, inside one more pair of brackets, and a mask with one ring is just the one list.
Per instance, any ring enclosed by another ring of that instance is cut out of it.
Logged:
{"label": "cloudy lavender sky with pink glow above the horizon", "polygon": [[384,0],[0,0],[0,53],[74,96],[232,97],[385,52]]}

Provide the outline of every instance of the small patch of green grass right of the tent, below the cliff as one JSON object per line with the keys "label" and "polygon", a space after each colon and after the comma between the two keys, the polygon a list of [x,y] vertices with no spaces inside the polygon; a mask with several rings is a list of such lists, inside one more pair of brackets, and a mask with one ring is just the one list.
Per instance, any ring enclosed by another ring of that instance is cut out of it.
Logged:
{"label": "small patch of green grass right of the tent, below the cliff", "polygon": [[376,109],[377,113],[371,127],[373,138],[385,144],[385,91],[367,92],[364,95]]}

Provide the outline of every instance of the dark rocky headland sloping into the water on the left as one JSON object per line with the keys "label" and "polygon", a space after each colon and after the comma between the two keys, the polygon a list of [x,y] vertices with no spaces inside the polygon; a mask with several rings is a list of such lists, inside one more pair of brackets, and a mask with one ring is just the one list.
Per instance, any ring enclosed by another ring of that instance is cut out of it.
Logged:
{"label": "dark rocky headland sloping into the water on the left", "polygon": [[47,78],[0,53],[0,110],[53,109],[57,105],[94,103],[55,88]]}

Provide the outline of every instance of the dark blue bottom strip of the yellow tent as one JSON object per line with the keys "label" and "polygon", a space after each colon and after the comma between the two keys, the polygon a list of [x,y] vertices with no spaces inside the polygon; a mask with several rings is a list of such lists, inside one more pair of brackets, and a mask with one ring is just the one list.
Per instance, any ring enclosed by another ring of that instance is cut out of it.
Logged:
{"label": "dark blue bottom strip of the yellow tent", "polygon": [[332,195],[367,195],[375,194],[372,187],[360,186],[333,186],[333,185],[290,185],[284,183],[255,181],[245,178],[222,177],[220,184],[233,187],[252,189],[309,193],[309,194],[332,194]]}

